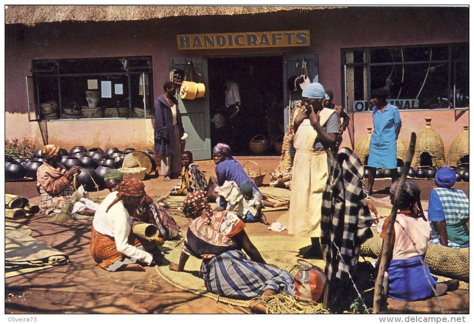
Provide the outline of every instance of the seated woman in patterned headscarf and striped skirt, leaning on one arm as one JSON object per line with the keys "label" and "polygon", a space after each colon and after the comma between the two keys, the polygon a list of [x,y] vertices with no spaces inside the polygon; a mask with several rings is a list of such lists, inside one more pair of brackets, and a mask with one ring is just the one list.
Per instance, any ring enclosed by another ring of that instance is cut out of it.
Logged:
{"label": "seated woman in patterned headscarf and striped skirt, leaning on one arm", "polygon": [[[245,223],[232,212],[213,211],[206,192],[199,190],[188,194],[183,213],[193,220],[183,241],[179,263],[170,264],[170,270],[184,271],[186,261],[192,255],[203,260],[201,273],[204,285],[211,293],[236,299],[280,292],[293,295],[293,275],[267,265],[247,236]],[[257,298],[250,303],[250,309],[265,313],[267,307]]]}

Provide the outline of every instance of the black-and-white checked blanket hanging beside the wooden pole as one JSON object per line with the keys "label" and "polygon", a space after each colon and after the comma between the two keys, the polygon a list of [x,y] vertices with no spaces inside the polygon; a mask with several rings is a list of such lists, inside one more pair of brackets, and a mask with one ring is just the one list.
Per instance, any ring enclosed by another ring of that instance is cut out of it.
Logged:
{"label": "black-and-white checked blanket hanging beside the wooden pole", "polygon": [[360,246],[372,237],[372,217],[362,191],[363,166],[348,148],[339,150],[323,192],[321,243],[328,246],[329,280],[349,279],[356,270]]}

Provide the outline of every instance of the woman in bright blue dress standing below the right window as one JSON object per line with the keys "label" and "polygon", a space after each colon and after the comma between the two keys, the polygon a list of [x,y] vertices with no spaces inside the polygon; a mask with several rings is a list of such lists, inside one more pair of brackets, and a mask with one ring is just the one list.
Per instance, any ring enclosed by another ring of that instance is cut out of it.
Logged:
{"label": "woman in bright blue dress standing below the right window", "polygon": [[373,132],[370,137],[369,159],[367,161],[367,187],[364,192],[372,194],[377,168],[390,169],[392,183],[397,180],[397,139],[402,119],[397,106],[387,103],[388,91],[380,88],[372,91]]}

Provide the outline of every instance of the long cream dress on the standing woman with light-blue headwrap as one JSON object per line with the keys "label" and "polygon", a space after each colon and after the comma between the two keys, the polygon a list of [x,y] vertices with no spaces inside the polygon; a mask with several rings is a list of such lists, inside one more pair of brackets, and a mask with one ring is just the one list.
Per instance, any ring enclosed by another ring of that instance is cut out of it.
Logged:
{"label": "long cream dress on the standing woman with light-blue headwrap", "polygon": [[[329,115],[321,115],[323,125]],[[294,135],[288,233],[303,237],[321,237],[321,204],[328,177],[326,151],[313,149],[318,133],[309,119],[303,120]]]}

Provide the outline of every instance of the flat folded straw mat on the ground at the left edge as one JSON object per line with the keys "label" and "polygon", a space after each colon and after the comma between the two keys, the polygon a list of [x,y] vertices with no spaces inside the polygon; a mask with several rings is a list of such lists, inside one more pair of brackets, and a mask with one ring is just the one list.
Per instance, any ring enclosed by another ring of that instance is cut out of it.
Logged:
{"label": "flat folded straw mat on the ground at the left edge", "polygon": [[32,231],[14,222],[5,222],[5,278],[63,266],[69,257],[31,237]]}

